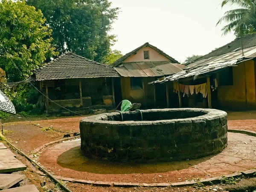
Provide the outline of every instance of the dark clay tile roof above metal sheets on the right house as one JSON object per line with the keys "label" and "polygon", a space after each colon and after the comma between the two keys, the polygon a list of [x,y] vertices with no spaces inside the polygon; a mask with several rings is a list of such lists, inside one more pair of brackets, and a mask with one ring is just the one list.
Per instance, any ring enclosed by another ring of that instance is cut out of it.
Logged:
{"label": "dark clay tile roof above metal sheets on the right house", "polygon": [[[243,46],[242,46],[243,44]],[[235,52],[242,49],[249,48],[249,47],[255,47],[256,46],[256,33],[252,35],[247,35],[242,38],[237,38],[234,41],[231,41],[230,43],[219,47],[218,49],[213,50],[212,52],[209,52],[207,55],[204,55],[200,58],[198,58],[196,61],[199,61],[201,59],[207,59],[211,57],[215,57],[218,55],[224,55],[229,52]]]}

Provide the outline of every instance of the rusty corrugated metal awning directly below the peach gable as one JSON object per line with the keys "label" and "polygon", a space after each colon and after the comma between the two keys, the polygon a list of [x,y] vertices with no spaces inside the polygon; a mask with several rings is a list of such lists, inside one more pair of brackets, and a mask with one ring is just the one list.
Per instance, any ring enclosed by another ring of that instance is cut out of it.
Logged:
{"label": "rusty corrugated metal awning directly below the peach gable", "polygon": [[114,69],[123,77],[159,77],[183,71],[169,61],[128,62]]}

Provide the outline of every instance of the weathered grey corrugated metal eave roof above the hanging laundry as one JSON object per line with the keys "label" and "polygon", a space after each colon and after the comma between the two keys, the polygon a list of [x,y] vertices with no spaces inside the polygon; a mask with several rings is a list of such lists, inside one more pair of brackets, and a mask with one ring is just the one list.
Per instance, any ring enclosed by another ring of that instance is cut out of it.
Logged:
{"label": "weathered grey corrugated metal eave roof above the hanging laundry", "polygon": [[164,83],[167,81],[176,81],[178,79],[183,79],[187,77],[197,76],[207,73],[213,73],[217,70],[224,69],[225,67],[230,67],[235,64],[241,63],[246,60],[250,60],[256,57],[256,47],[250,47],[244,49],[244,56],[242,55],[242,50],[238,52],[230,52],[224,55],[215,56],[208,59],[203,59],[190,64],[188,68],[182,72],[176,73],[172,76],[166,77],[162,81],[153,81],[149,84]]}

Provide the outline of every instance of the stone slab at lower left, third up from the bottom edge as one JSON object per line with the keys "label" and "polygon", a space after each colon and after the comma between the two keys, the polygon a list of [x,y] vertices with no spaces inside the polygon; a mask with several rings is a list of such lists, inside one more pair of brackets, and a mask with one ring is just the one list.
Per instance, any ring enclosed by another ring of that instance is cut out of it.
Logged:
{"label": "stone slab at lower left, third up from the bottom edge", "polygon": [[15,157],[0,157],[0,173],[23,171],[26,166]]}

